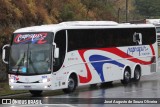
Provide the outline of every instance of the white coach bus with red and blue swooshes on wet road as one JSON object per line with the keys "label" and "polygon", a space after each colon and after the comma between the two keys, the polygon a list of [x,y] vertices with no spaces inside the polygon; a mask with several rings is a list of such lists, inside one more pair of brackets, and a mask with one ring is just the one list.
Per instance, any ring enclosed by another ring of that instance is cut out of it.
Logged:
{"label": "white coach bus with red and blue swooshes on wet road", "polygon": [[115,80],[138,82],[157,71],[157,53],[154,25],[69,21],[16,30],[2,59],[11,90],[39,95]]}

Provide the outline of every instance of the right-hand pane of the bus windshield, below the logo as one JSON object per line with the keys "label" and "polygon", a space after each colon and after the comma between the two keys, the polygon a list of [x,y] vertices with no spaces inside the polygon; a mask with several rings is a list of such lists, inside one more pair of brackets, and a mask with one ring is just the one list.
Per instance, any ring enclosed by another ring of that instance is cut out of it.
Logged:
{"label": "right-hand pane of the bus windshield, below the logo", "polygon": [[51,45],[30,45],[28,71],[43,74],[51,71]]}

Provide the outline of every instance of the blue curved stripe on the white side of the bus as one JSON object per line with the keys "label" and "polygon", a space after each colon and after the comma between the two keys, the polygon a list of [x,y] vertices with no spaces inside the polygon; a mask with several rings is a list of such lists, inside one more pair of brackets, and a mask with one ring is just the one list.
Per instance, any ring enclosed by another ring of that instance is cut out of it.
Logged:
{"label": "blue curved stripe on the white side of the bus", "polygon": [[[105,61],[94,62],[94,61],[101,61],[101,60],[105,60]],[[110,60],[110,61],[107,61],[107,60]],[[91,62],[92,66],[95,68],[97,73],[99,74],[102,82],[105,81],[104,74],[103,74],[103,65],[105,63],[114,64],[114,65],[117,65],[117,66],[119,66],[121,68],[124,67],[124,64],[119,63],[119,62],[117,62],[115,60],[112,60],[112,59],[110,59],[108,57],[105,57],[105,56],[102,56],[102,55],[92,55],[92,56],[89,57],[89,61]]]}

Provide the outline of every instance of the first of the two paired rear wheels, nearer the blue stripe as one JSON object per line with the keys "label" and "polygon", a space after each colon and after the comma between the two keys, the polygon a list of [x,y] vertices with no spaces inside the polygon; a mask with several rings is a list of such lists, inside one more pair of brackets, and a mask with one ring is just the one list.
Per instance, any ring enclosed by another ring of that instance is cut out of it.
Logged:
{"label": "first of the two paired rear wheels, nearer the blue stripe", "polygon": [[124,74],[123,74],[123,80],[121,80],[121,83],[126,85],[130,83],[130,81],[131,81],[131,73],[129,69],[125,69]]}

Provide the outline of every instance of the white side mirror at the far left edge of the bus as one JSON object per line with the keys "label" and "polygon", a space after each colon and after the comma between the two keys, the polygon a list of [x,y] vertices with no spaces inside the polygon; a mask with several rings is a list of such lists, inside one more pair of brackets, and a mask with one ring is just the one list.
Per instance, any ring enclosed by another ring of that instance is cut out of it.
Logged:
{"label": "white side mirror at the far left edge of the bus", "polygon": [[5,64],[8,64],[9,61],[9,47],[10,45],[4,45],[2,48],[2,60]]}

